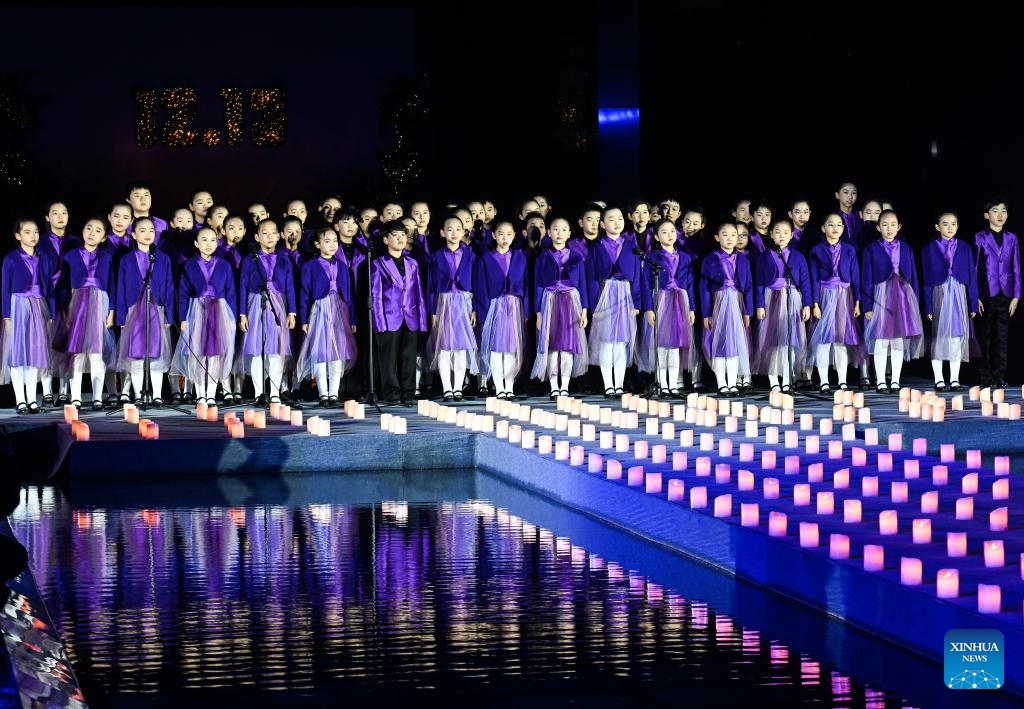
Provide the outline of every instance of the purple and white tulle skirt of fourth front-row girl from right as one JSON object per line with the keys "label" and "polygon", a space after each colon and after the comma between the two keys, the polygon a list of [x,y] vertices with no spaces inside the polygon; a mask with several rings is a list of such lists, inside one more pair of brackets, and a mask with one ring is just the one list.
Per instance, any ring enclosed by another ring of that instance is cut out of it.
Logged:
{"label": "purple and white tulle skirt of fourth front-row girl from right", "polygon": [[800,317],[803,308],[804,299],[798,289],[765,289],[765,319],[758,327],[751,369],[776,377],[804,370],[807,330]]}

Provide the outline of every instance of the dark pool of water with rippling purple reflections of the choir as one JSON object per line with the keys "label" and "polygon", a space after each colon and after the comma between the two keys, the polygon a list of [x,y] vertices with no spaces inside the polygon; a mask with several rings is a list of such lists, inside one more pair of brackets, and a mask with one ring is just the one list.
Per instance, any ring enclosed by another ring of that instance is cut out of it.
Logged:
{"label": "dark pool of water with rippling purple reflections of the choir", "polygon": [[104,510],[26,488],[11,525],[87,701],[386,682],[900,706],[487,502]]}

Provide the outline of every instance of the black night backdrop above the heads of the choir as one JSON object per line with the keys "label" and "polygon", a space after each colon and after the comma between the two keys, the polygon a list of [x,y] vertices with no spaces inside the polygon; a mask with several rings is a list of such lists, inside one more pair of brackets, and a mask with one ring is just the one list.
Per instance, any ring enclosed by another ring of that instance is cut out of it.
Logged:
{"label": "black night backdrop above the heads of the choir", "polygon": [[[590,199],[675,195],[713,225],[739,197],[776,211],[805,197],[819,218],[849,179],[861,202],[893,202],[911,243],[946,209],[970,238],[994,194],[1016,232],[1018,14],[1009,3],[16,6],[5,24],[23,39],[0,49],[0,216],[41,216],[60,198],[77,232],[141,177],[165,218],[198,187],[231,210],[396,194],[435,214],[493,198],[506,216],[544,192],[570,216]],[[283,86],[287,143],[136,147],[132,91],[175,84],[197,88],[200,128],[222,127],[219,88]],[[639,108],[640,127],[599,128],[599,107]]]}

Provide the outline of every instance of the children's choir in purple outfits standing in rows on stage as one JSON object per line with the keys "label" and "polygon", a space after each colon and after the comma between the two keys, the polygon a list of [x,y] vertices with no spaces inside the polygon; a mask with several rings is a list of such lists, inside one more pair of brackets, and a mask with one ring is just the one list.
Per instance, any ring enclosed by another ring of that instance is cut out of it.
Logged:
{"label": "children's choir in purple outfits standing in rows on stage", "polygon": [[[241,401],[248,377],[261,405],[309,381],[331,407],[360,372],[383,403],[409,404],[430,372],[444,401],[461,401],[477,373],[499,399],[525,378],[555,398],[590,367],[605,397],[632,386],[636,368],[657,395],[677,398],[687,373],[702,385],[703,364],[720,394],[737,395],[751,375],[790,391],[813,371],[820,391],[845,389],[848,369],[867,362],[874,388],[890,392],[926,350],[937,390],[959,389],[971,359],[983,384],[1006,384],[1021,275],[1001,199],[985,205],[988,223],[971,241],[941,213],[920,254],[892,209],[867,220],[840,209],[812,228],[805,202],[782,219],[755,202],[754,228],[737,211],[710,236],[699,211],[677,226],[673,200],[653,223],[657,206],[631,204],[630,230],[620,208],[588,205],[577,235],[563,217],[513,223],[493,209],[455,210],[432,231],[425,203],[406,220],[389,204],[383,223],[339,208],[309,230],[304,205],[292,204],[280,222],[215,207],[205,223],[179,210],[158,230],[129,201],[81,236],[67,232],[59,203],[45,235],[42,221],[18,219],[0,277],[0,382],[12,384],[16,411],[80,407],[86,374],[97,410],[104,385],[114,401],[147,391],[163,404],[165,375],[174,403],[216,401],[218,387]],[[356,369],[368,357],[372,368]]]}

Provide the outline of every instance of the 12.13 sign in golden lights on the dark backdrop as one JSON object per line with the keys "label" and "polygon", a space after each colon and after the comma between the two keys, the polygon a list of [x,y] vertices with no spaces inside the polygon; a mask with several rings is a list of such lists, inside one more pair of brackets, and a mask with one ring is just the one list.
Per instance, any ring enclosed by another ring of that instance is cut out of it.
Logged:
{"label": "12.13 sign in golden lights on the dark backdrop", "polygon": [[[283,88],[222,88],[225,129],[200,128],[199,94],[191,86],[139,89],[134,93],[138,118],[135,142],[141,148],[159,143],[168,148],[185,145],[241,145],[245,142],[244,121],[248,105],[249,142],[259,148],[285,144],[288,135],[288,101]],[[161,125],[163,121],[163,125]]]}

